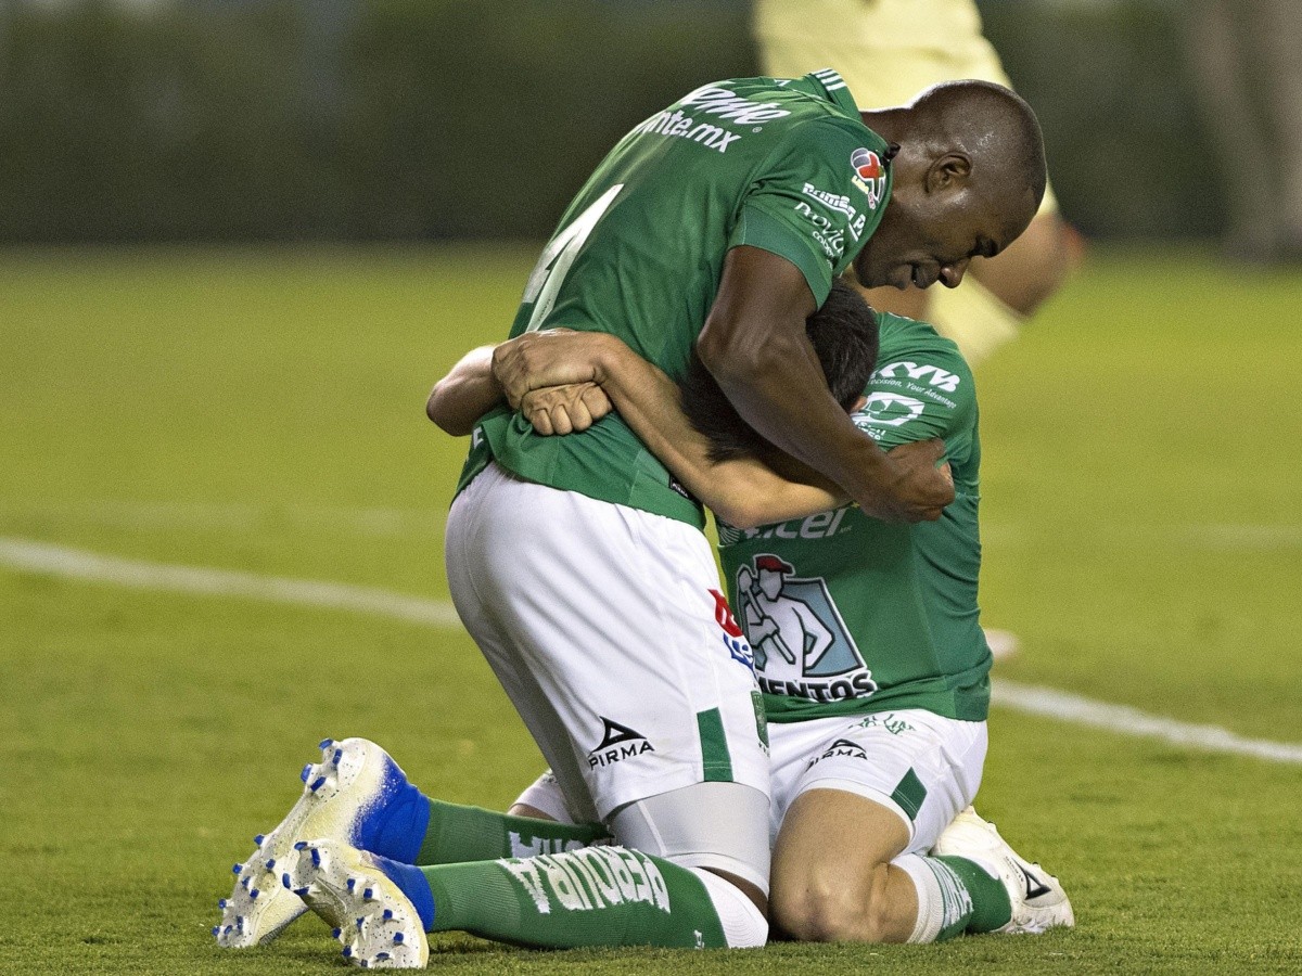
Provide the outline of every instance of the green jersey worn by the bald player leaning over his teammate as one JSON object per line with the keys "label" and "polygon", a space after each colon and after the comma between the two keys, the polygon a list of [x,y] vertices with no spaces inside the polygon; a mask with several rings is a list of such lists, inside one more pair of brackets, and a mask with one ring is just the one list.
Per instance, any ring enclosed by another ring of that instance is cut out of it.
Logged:
{"label": "green jersey worn by the bald player leaning over his teammate", "polygon": [[[681,380],[729,249],[786,258],[822,305],[881,219],[889,156],[835,72],[697,88],[602,161],[530,275],[510,334],[609,332]],[[530,481],[703,526],[699,504],[616,414],[542,437],[499,407],[474,432],[458,491],[490,458]]]}

